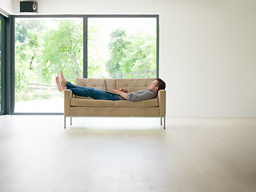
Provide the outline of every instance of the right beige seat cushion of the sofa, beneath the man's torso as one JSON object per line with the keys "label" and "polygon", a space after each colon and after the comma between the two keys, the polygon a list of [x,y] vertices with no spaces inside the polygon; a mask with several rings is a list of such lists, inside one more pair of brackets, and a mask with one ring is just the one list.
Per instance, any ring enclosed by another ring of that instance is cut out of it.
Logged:
{"label": "right beige seat cushion of the sofa, beneath the man's torso", "polygon": [[127,108],[142,108],[142,107],[157,107],[158,104],[158,98],[149,99],[145,101],[140,102],[130,102],[130,101],[115,101],[114,102],[115,107],[127,107]]}

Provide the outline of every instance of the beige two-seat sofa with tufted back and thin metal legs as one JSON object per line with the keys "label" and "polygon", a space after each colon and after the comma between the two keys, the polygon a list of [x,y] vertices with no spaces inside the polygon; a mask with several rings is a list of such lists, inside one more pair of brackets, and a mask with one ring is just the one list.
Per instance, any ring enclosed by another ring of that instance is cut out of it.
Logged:
{"label": "beige two-seat sofa with tufted back and thin metal legs", "polygon": [[[128,92],[147,90],[155,78],[109,78],[91,79],[77,78],[76,85],[90,86],[99,90],[118,90],[126,88]],[[82,98],[64,90],[64,128],[66,117],[159,117],[164,118],[163,128],[166,129],[166,90],[159,90],[158,97],[140,102],[106,101]]]}

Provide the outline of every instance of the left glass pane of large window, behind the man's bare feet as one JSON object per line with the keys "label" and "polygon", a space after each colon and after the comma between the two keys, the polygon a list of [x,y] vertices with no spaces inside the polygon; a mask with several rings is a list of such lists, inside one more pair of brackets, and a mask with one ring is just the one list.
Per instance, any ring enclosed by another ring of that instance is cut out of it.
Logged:
{"label": "left glass pane of large window, behind the man's bare feet", "polygon": [[83,74],[82,18],[16,18],[14,112],[63,112],[59,70],[70,82]]}

